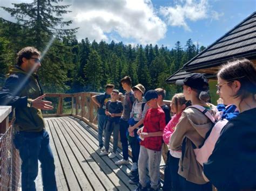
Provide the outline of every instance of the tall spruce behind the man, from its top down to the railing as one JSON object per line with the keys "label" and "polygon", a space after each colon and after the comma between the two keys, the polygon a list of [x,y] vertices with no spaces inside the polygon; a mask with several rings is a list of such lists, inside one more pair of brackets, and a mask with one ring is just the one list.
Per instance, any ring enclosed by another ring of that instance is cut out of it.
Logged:
{"label": "tall spruce behind the man, from its top down to the railing", "polygon": [[[39,74],[45,90],[55,92],[68,88],[65,83],[68,81],[70,63],[65,58],[70,48],[63,44],[62,39],[73,37],[77,31],[63,29],[72,21],[63,21],[61,16],[70,12],[66,10],[70,5],[58,5],[60,1],[34,0],[32,3],[13,3],[14,8],[1,7],[24,27],[25,30],[21,34],[24,46],[35,46],[45,54]],[[57,85],[56,88],[51,88],[53,83]]]}

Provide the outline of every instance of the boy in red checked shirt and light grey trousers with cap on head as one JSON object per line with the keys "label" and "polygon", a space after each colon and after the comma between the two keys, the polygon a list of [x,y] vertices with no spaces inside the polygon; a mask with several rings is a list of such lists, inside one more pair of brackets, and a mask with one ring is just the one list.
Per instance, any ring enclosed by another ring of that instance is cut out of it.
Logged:
{"label": "boy in red checked shirt and light grey trousers with cap on head", "polygon": [[137,133],[143,139],[140,142],[139,152],[139,187],[137,190],[146,188],[146,167],[149,164],[149,176],[151,189],[158,190],[161,161],[161,146],[163,144],[163,131],[165,128],[165,113],[157,103],[158,93],[156,90],[147,91],[144,101],[149,105],[144,119],[144,128]]}

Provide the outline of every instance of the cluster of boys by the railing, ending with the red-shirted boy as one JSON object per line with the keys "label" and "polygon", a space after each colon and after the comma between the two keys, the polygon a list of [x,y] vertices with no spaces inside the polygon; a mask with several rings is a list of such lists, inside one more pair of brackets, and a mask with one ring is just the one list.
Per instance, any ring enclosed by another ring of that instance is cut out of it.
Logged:
{"label": "cluster of boys by the railing, ending with the red-shirted boy", "polygon": [[[116,165],[130,164],[128,157],[128,145],[132,150],[132,167],[129,176],[129,183],[139,183],[138,189],[147,186],[146,169],[149,170],[150,187],[153,190],[160,188],[160,161],[161,148],[163,145],[163,131],[170,121],[170,109],[164,104],[165,90],[158,88],[145,93],[145,87],[137,84],[131,87],[131,78],[125,76],[121,80],[125,90],[123,104],[118,101],[119,91],[113,89],[111,84],[106,85],[106,93],[96,95],[92,100],[99,109],[105,109],[105,124],[98,123],[101,129],[99,135],[99,148],[102,150],[101,156],[108,155],[109,158],[116,157],[118,135],[122,143],[123,159],[115,162]],[[111,91],[111,93],[110,93]],[[110,94],[110,100],[106,100]],[[144,95],[144,98],[143,98]],[[99,112],[99,111],[98,111]],[[98,113],[98,115],[101,115]],[[100,116],[101,117],[101,116]],[[109,151],[109,142],[113,132],[113,151]]]}

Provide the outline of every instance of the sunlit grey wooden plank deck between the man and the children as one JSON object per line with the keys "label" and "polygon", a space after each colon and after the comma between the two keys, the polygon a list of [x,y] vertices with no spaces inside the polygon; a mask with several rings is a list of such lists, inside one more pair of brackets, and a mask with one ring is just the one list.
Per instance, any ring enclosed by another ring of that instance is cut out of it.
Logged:
{"label": "sunlit grey wooden plank deck between the man and the children", "polygon": [[[122,159],[100,157],[97,131],[74,117],[45,118],[46,130],[55,158],[58,190],[134,190],[129,184],[130,165],[116,166]],[[112,143],[110,143],[110,150]],[[43,190],[41,175],[36,180],[37,190]]]}

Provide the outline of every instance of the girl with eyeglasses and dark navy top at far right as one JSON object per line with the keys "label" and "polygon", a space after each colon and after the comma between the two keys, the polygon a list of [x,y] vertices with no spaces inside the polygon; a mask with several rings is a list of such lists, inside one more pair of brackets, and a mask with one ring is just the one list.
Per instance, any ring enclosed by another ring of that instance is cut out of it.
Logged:
{"label": "girl with eyeglasses and dark navy top at far right", "polygon": [[256,69],[247,59],[235,60],[218,72],[218,94],[240,114],[223,128],[204,174],[218,191],[256,189]]}

